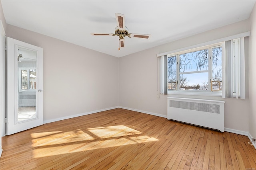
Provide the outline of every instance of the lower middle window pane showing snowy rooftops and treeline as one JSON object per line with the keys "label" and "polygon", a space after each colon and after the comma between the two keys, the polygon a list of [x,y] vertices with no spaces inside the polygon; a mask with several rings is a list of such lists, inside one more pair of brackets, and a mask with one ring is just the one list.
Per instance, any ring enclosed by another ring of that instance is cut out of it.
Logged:
{"label": "lower middle window pane showing snowy rooftops and treeline", "polygon": [[180,74],[180,90],[208,90],[208,72]]}

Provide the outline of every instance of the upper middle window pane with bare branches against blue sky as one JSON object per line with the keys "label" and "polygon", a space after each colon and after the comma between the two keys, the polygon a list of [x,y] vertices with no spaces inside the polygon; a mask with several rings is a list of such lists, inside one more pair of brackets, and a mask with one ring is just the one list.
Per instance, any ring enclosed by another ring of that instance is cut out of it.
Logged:
{"label": "upper middle window pane with bare branches against blue sky", "polygon": [[208,49],[180,55],[180,72],[208,70]]}

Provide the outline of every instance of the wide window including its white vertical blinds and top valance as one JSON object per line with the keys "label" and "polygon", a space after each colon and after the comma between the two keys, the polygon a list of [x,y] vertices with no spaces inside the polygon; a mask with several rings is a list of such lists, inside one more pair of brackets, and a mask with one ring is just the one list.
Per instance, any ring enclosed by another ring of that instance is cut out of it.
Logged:
{"label": "wide window including its white vertical blinds and top valance", "polygon": [[158,94],[245,99],[248,36],[245,32],[158,54]]}

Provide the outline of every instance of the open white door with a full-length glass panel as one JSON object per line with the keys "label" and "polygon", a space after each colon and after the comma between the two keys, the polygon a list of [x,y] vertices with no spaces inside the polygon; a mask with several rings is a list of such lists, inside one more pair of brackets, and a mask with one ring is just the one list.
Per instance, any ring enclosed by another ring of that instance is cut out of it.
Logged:
{"label": "open white door with a full-length glass panel", "polygon": [[43,124],[43,49],[7,37],[7,125],[11,135]]}

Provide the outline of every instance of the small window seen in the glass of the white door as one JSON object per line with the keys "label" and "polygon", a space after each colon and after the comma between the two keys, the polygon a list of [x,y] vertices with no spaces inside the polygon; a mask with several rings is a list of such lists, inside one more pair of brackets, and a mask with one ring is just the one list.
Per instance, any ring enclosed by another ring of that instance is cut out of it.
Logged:
{"label": "small window seen in the glass of the white door", "polygon": [[30,90],[36,89],[36,70],[35,69],[20,69],[21,71],[21,89]]}

